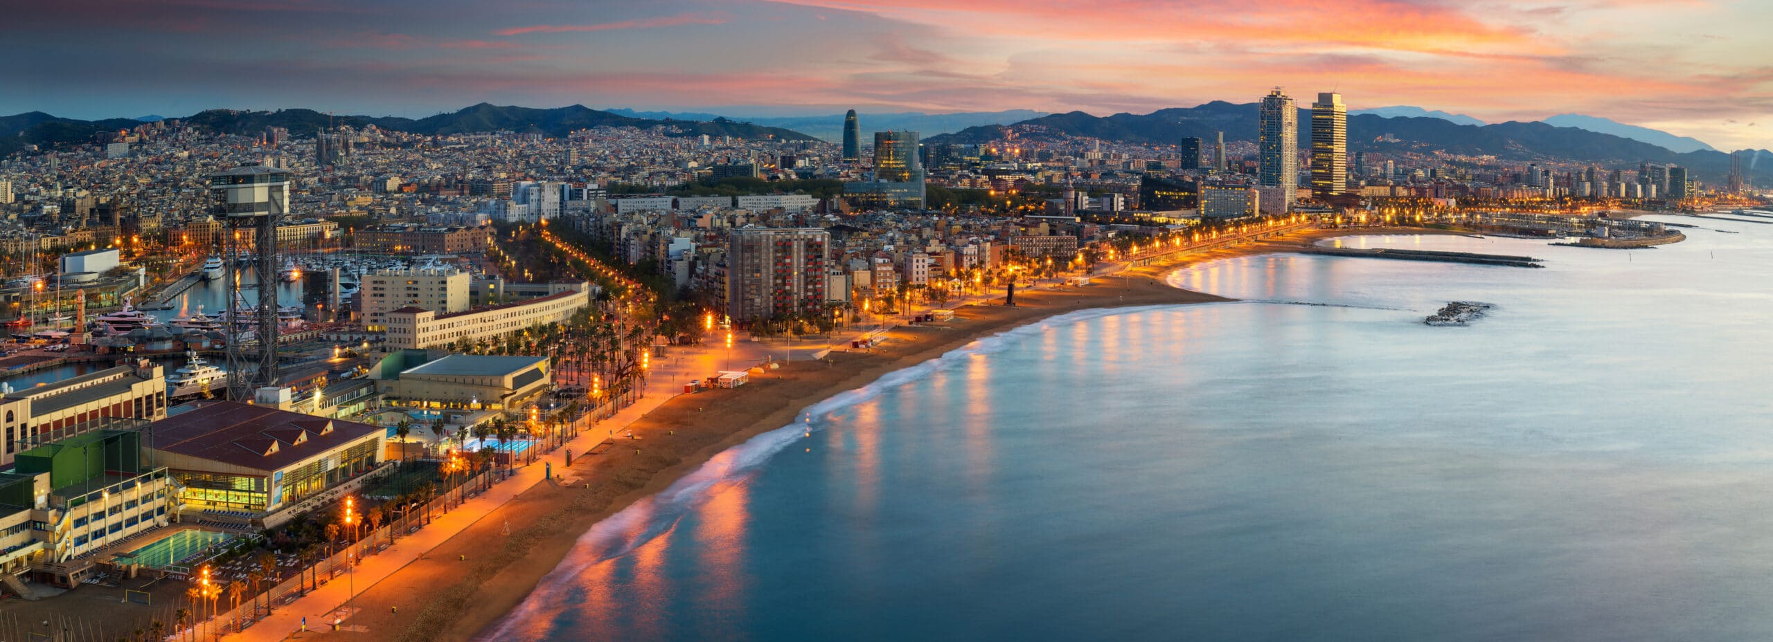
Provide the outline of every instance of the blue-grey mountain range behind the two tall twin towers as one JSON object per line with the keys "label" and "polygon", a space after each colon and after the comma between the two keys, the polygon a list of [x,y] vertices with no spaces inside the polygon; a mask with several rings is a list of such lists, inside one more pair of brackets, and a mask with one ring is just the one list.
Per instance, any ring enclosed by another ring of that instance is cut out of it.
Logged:
{"label": "blue-grey mountain range behind the two tall twin towers", "polygon": [[[1213,101],[1191,108],[1168,108],[1151,114],[1090,115],[1083,112],[1051,114],[1011,126],[979,126],[952,135],[933,137],[926,144],[982,144],[1002,140],[1009,128],[1019,138],[1090,137],[1128,144],[1175,144],[1184,137],[1213,140],[1223,131],[1225,140],[1255,140],[1257,105]],[[1300,147],[1310,144],[1310,110],[1300,110]],[[1631,140],[1613,133],[1553,126],[1546,122],[1457,124],[1441,117],[1383,117],[1355,114],[1347,117],[1347,149],[1351,153],[1434,153],[1459,156],[1496,156],[1504,160],[1571,160],[1608,167],[1631,167],[1640,161],[1679,163],[1700,172],[1706,179],[1722,179],[1729,172],[1729,154],[1697,149],[1677,153],[1661,145]]]}

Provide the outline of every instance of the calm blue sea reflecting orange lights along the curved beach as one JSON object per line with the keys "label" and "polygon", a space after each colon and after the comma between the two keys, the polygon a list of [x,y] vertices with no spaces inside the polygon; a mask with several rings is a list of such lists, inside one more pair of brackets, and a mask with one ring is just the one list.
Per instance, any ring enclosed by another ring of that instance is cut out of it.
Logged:
{"label": "calm blue sea reflecting orange lights along the curved beach", "polygon": [[[826,399],[599,523],[482,638],[1773,638],[1773,229],[1697,223],[1335,241],[1544,270],[1179,271],[1243,301],[1067,314]],[[1495,307],[1422,325],[1452,300]]]}

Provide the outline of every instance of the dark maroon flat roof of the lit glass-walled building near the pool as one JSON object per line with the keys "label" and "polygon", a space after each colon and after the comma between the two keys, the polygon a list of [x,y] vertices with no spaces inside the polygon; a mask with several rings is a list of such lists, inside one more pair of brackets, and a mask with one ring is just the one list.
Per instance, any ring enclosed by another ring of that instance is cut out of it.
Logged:
{"label": "dark maroon flat roof of the lit glass-walled building near the pool", "polygon": [[149,426],[154,450],[269,474],[383,427],[232,401],[191,403]]}

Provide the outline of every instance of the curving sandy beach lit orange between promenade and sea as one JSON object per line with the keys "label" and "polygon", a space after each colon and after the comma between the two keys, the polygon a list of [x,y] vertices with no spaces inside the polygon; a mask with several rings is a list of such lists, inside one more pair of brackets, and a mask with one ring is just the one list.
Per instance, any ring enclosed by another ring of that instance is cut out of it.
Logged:
{"label": "curving sandy beach lit orange between promenade and sea", "polygon": [[[757,435],[787,426],[819,401],[865,387],[977,339],[1046,317],[1138,305],[1188,305],[1230,298],[1179,289],[1165,277],[1190,264],[1259,254],[1284,254],[1324,238],[1369,234],[1457,234],[1431,229],[1319,229],[1269,241],[1190,252],[1149,266],[1099,275],[1092,286],[1018,291],[1018,307],[959,307],[956,321],[899,326],[869,353],[832,353],[830,364],[793,362],[738,390],[706,390],[667,399],[633,424],[638,442],[619,442],[599,456],[578,456],[571,468],[550,454],[566,484],[535,484],[505,505],[365,589],[348,619],[351,630],[394,640],[475,640],[511,614],[596,523],[667,489],[713,456]],[[1002,298],[993,298],[1002,303]],[[693,349],[693,348],[688,348]],[[704,411],[715,410],[715,411]],[[589,482],[589,486],[587,486]],[[401,614],[404,612],[404,615]],[[314,637],[316,631],[303,635]],[[348,633],[321,633],[344,637]]]}

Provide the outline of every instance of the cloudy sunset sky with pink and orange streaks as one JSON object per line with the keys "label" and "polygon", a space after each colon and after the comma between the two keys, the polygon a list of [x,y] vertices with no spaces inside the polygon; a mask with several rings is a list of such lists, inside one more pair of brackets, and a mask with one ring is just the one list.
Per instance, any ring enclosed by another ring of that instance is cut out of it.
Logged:
{"label": "cloudy sunset sky with pink and orange streaks", "polygon": [[0,114],[473,103],[743,115],[1147,114],[1285,87],[1773,147],[1768,0],[57,0],[0,21]]}

